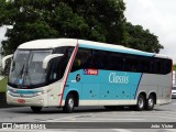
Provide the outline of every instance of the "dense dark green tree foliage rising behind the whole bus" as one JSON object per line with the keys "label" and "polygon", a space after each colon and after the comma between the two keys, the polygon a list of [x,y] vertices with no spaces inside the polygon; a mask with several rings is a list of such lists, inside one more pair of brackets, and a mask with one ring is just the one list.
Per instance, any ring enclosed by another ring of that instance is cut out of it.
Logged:
{"label": "dense dark green tree foliage rising behind the whole bus", "polygon": [[2,42],[11,54],[28,41],[73,37],[125,45],[147,52],[163,48],[142,26],[125,22],[123,0],[1,0],[0,25],[11,25]]}

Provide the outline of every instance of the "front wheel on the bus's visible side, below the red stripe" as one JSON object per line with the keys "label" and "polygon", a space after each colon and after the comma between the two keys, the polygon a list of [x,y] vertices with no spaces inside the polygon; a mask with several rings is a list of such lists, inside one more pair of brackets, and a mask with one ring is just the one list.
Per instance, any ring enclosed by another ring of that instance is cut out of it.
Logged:
{"label": "front wheel on the bus's visible side, below the red stripe", "polygon": [[66,98],[63,111],[66,113],[72,113],[74,111],[74,107],[75,107],[75,98],[72,94],[69,94]]}

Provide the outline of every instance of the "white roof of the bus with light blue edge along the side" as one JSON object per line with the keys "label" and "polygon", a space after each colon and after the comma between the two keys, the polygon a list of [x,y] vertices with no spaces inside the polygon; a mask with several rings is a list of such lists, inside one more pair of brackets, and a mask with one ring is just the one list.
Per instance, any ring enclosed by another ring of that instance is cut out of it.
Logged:
{"label": "white roof of the bus with light blue edge along the side", "polygon": [[46,38],[46,40],[36,40],[21,44],[18,48],[20,50],[44,50],[44,48],[55,48],[59,46],[76,46],[77,43],[79,47],[110,51],[110,52],[119,52],[142,56],[155,56],[161,58],[169,58],[168,56],[142,52],[139,50],[133,50],[129,47],[124,47],[121,45],[107,44],[100,42],[85,41],[85,40],[76,40],[76,38]]}

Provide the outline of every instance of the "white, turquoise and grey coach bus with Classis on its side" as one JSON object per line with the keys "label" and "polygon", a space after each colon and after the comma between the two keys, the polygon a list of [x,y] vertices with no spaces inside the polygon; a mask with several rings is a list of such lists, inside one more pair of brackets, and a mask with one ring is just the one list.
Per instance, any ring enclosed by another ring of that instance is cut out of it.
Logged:
{"label": "white, turquoise and grey coach bus with Classis on its side", "polygon": [[33,112],[62,107],[69,113],[79,106],[142,111],[172,99],[168,56],[76,38],[26,42],[9,56],[7,102]]}

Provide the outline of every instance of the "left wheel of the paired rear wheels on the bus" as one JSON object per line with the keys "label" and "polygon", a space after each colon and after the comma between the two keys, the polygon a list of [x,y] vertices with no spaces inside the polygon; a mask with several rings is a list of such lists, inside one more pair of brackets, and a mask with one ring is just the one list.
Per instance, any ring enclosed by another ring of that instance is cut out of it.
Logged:
{"label": "left wheel of the paired rear wheels on the bus", "polygon": [[142,111],[145,108],[145,98],[144,96],[140,95],[138,98],[138,103],[135,106],[135,109],[138,111]]}

